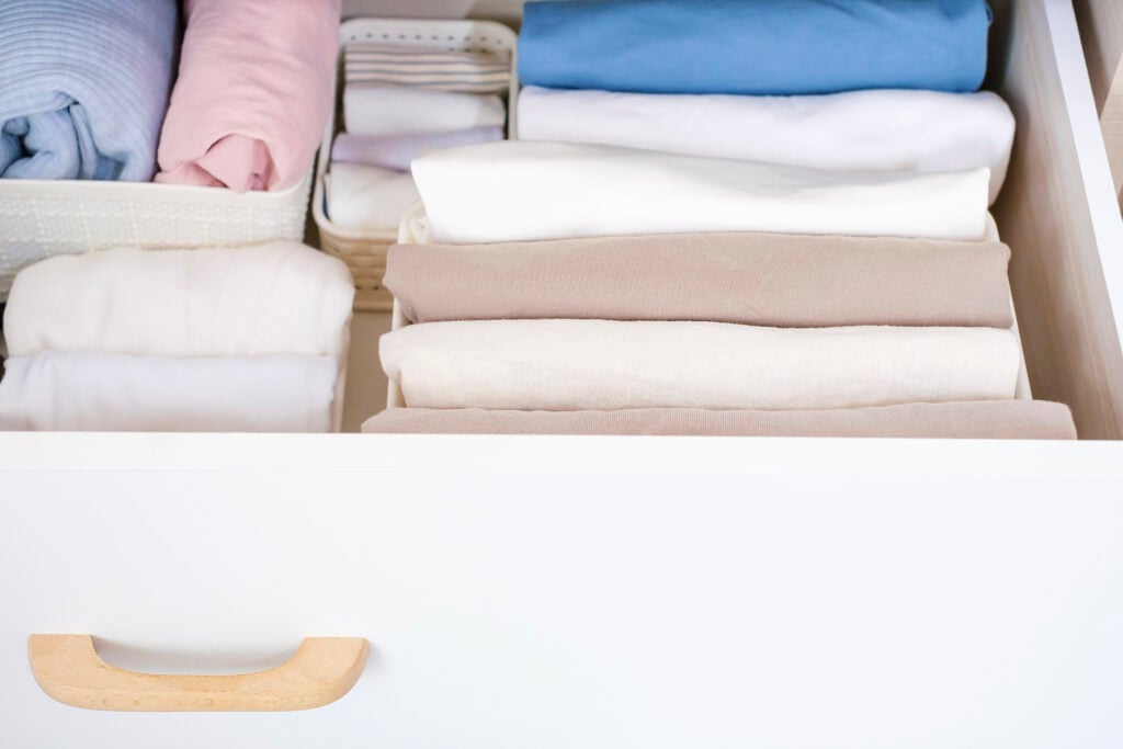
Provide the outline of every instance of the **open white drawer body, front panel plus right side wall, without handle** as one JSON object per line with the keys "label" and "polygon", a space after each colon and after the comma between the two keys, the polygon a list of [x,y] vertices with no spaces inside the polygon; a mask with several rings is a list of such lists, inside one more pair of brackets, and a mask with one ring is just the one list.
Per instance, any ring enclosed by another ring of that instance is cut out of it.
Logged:
{"label": "open white drawer body, front panel plus right side wall, without handle", "polygon": [[[993,4],[1033,393],[1117,438],[1123,220],[1072,9]],[[3,746],[1123,741],[1117,441],[40,433],[0,466]],[[94,712],[36,685],[39,632],[144,672],[372,655],[320,710]]]}

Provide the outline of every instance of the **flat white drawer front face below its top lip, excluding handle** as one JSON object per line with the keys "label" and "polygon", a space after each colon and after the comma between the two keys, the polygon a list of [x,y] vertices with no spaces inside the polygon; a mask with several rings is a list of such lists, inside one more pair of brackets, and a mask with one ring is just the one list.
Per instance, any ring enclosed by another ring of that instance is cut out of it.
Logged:
{"label": "flat white drawer front face below its top lip, excluding handle", "polygon": [[[13,472],[0,746],[1117,747],[1119,479]],[[250,670],[365,637],[339,702],[53,702],[26,638]]]}

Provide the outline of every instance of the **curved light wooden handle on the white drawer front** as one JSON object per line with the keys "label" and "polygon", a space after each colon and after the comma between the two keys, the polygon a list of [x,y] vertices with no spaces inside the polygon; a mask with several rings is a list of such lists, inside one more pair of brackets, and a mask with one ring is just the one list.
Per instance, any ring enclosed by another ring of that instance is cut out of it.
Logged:
{"label": "curved light wooden handle on the white drawer front", "polygon": [[140,674],[110,666],[89,634],[33,634],[31,673],[58,702],[88,710],[308,710],[347,694],[366,665],[357,637],[310,637],[285,664],[231,676]]}

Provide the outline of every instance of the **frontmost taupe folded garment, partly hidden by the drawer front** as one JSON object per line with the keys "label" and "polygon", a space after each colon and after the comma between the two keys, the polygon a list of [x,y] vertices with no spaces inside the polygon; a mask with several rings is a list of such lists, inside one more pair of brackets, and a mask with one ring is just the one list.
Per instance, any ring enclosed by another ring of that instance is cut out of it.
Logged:
{"label": "frontmost taupe folded garment, partly hidden by the drawer front", "polygon": [[1068,407],[1046,401],[910,403],[838,411],[390,409],[367,420],[363,431],[383,435],[1076,439]]}

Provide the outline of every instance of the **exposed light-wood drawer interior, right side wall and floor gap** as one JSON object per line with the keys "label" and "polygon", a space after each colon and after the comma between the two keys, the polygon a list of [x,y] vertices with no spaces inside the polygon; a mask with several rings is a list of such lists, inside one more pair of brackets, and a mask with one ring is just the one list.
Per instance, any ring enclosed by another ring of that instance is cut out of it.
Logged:
{"label": "exposed light-wood drawer interior, right side wall and floor gap", "polygon": [[[1010,174],[993,211],[1012,248],[1011,285],[1033,395],[1068,404],[1081,438],[1119,439],[1123,351],[1115,320],[1123,314],[1123,267],[1112,264],[1123,248],[1123,221],[1072,10],[1057,0],[990,4],[986,88],[1001,93],[1017,119]],[[520,3],[481,6],[484,16],[512,22]],[[351,2],[346,11],[372,9]],[[317,244],[311,222],[307,240]],[[390,313],[355,317],[345,431],[358,431],[385,408],[377,342],[390,325]]]}

